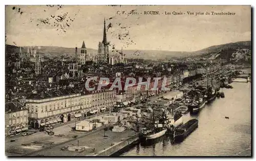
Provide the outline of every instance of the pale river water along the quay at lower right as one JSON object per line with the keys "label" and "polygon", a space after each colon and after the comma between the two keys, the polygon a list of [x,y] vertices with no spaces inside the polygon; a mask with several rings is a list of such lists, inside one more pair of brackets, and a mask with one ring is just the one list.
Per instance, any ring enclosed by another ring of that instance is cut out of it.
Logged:
{"label": "pale river water along the quay at lower right", "polygon": [[[216,98],[201,111],[184,114],[184,123],[198,119],[198,128],[182,143],[163,136],[155,144],[136,144],[122,156],[251,156],[251,84],[233,82],[221,88],[225,98]],[[225,116],[229,119],[225,119]]]}

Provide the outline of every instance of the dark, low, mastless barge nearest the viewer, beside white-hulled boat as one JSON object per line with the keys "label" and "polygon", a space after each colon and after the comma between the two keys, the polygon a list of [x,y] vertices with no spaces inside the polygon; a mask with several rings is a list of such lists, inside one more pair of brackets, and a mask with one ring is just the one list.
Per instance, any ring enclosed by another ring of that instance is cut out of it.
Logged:
{"label": "dark, low, mastless barge nearest the viewer, beside white-hulled boat", "polygon": [[192,131],[198,127],[198,120],[192,119],[186,122],[184,125],[181,125],[174,132],[175,141],[183,141]]}

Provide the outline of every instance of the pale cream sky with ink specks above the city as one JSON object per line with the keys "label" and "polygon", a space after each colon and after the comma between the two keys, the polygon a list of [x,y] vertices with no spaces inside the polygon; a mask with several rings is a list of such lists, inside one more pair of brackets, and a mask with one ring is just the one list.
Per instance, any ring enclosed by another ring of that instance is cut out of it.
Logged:
{"label": "pale cream sky with ink specks above the city", "polygon": [[[129,14],[131,11],[138,14]],[[144,14],[144,11],[159,14]],[[188,15],[188,11],[194,15]],[[205,15],[211,11],[236,14]],[[196,12],[204,15],[196,16]],[[55,5],[6,6],[6,43],[80,48],[84,41],[87,48],[97,49],[103,39],[104,18],[106,27],[111,26],[107,39],[116,49],[191,52],[251,40],[250,6]]]}

